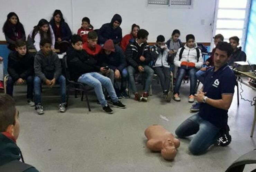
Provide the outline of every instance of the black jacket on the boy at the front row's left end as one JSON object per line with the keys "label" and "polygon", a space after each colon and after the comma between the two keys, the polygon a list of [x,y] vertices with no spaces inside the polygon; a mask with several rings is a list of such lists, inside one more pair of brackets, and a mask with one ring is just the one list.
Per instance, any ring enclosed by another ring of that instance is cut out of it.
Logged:
{"label": "black jacket on the boy at the front row's left end", "polygon": [[28,76],[34,75],[34,57],[32,54],[25,54],[19,57],[17,51],[13,51],[8,56],[7,71],[13,80],[19,78],[27,79]]}

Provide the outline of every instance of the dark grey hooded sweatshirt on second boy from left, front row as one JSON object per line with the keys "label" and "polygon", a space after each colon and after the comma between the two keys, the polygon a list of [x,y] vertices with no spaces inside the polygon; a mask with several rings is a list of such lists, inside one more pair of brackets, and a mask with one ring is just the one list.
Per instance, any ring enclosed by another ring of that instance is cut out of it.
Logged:
{"label": "dark grey hooded sweatshirt on second boy from left, front row", "polygon": [[62,72],[61,61],[52,51],[48,56],[45,56],[42,50],[38,51],[35,56],[34,69],[35,75],[44,82],[46,79],[58,79]]}

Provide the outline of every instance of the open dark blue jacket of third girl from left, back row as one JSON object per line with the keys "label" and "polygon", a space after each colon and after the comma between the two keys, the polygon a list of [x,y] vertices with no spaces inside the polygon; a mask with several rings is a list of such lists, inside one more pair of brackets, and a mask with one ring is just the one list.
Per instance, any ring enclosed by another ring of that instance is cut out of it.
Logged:
{"label": "open dark blue jacket of third girl from left, back row", "polygon": [[[54,22],[54,20],[51,20],[49,23],[52,26],[54,35],[56,35],[56,29],[55,29],[55,22]],[[72,36],[72,32],[71,32],[68,24],[66,22],[61,22],[61,39],[63,41],[70,41],[71,36]],[[57,39],[58,38],[55,36],[55,40],[57,40]]]}

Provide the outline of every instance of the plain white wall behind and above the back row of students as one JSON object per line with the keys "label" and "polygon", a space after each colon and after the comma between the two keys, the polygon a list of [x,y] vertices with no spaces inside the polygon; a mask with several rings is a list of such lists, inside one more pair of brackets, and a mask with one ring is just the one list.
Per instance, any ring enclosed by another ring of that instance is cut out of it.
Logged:
{"label": "plain white wall behind and above the back row of students", "polygon": [[[147,0],[1,0],[0,25],[2,27],[7,14],[14,11],[28,35],[40,19],[50,20],[54,10],[60,9],[72,32],[76,33],[85,16],[98,29],[110,22],[113,14],[119,13],[123,19],[123,35],[129,33],[131,25],[136,23],[149,31],[148,42],[154,42],[159,34],[169,39],[174,29],[181,31],[182,41],[186,34],[193,33],[197,42],[210,42],[215,1],[194,0],[191,9],[175,9],[162,5],[148,6]],[[2,32],[0,40],[5,40]]]}

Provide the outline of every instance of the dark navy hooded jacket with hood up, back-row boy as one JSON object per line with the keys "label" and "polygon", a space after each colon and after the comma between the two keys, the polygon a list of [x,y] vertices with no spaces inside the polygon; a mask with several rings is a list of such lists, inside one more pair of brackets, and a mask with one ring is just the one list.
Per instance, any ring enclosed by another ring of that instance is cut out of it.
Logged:
{"label": "dark navy hooded jacket with hood up, back-row boy", "polygon": [[114,44],[118,44],[122,40],[122,29],[120,25],[113,29],[113,23],[118,21],[121,25],[122,18],[119,14],[115,14],[110,23],[105,23],[101,26],[98,31],[98,43],[104,44],[108,39],[113,40]]}

